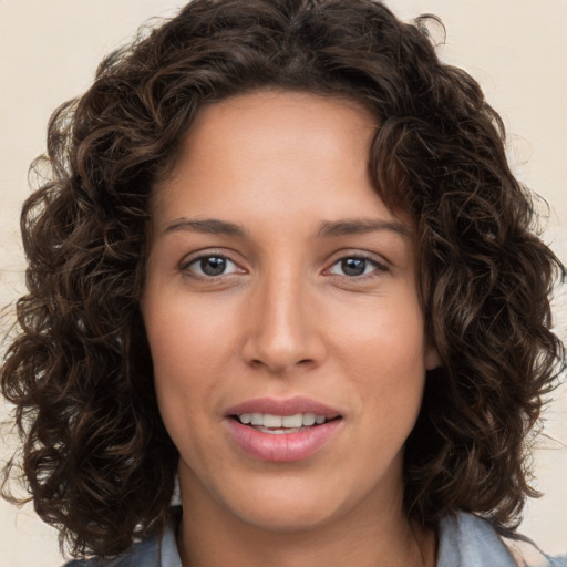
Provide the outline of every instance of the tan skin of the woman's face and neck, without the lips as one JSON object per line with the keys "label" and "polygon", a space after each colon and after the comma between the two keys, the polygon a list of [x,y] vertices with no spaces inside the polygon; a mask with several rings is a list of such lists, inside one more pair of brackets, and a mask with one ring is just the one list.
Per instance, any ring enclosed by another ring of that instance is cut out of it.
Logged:
{"label": "tan skin of the woman's face and neck, without the lips", "polygon": [[[186,567],[435,564],[434,534],[402,511],[402,461],[437,355],[411,219],[370,179],[375,127],[352,102],[239,95],[200,111],[155,189],[142,311],[181,453]],[[321,234],[340,221],[351,228]],[[207,276],[200,257],[229,261]],[[344,272],[353,257],[362,275]],[[296,395],[342,416],[316,454],[276,463],[237,446],[227,408]]]}

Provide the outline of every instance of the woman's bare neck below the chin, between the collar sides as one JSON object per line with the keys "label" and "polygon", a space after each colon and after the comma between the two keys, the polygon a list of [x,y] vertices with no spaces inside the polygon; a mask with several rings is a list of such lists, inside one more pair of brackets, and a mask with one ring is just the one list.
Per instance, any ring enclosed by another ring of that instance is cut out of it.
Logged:
{"label": "woman's bare neck below the chin, between the collar sides", "polygon": [[[192,501],[178,533],[184,567],[434,567],[436,537],[401,511],[352,513],[299,532],[271,532]],[[197,519],[198,518],[198,519]]]}

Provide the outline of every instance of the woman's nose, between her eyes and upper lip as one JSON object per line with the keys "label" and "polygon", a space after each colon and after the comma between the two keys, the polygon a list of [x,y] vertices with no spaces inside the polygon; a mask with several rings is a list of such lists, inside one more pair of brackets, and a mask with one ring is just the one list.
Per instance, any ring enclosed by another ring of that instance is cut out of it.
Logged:
{"label": "woman's nose, between her eyes and upper lip", "polygon": [[272,277],[258,286],[247,310],[243,357],[272,374],[318,367],[326,347],[317,301],[300,277]]}

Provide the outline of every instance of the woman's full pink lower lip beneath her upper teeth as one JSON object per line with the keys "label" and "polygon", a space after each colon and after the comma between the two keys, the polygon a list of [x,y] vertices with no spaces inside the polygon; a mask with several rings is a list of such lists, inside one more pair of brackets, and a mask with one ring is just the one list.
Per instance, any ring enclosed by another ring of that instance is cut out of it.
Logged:
{"label": "woman's full pink lower lip beneath her upper teeth", "polygon": [[296,433],[264,433],[228,417],[228,430],[236,444],[260,461],[289,463],[309,458],[336,434],[341,419],[332,420]]}

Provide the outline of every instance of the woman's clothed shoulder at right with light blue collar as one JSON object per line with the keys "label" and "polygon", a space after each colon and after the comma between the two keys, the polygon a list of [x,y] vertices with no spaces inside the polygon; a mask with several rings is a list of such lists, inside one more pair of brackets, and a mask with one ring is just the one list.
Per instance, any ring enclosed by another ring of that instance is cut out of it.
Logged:
{"label": "woman's clothed shoulder at right with light blue collar", "polygon": [[567,567],[525,542],[504,540],[492,525],[463,512],[440,524],[437,567]]}

